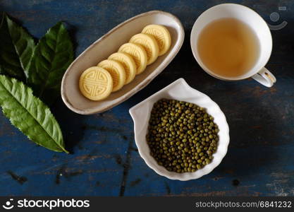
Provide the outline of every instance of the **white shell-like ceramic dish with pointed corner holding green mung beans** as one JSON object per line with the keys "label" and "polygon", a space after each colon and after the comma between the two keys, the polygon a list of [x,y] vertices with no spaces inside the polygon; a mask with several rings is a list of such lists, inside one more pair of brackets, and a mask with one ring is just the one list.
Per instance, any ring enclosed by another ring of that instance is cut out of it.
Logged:
{"label": "white shell-like ceramic dish with pointed corner holding green mung beans", "polygon": [[[200,107],[206,108],[207,112],[214,117],[214,122],[219,126],[219,144],[216,153],[213,155],[214,159],[212,160],[212,163],[205,165],[201,170],[197,170],[196,172],[178,174],[176,172],[169,172],[163,166],[158,165],[154,158],[152,158],[149,154],[149,146],[147,145],[145,136],[147,134],[150,112],[154,102],[157,102],[157,100],[160,100],[161,98],[195,103]],[[216,102],[204,93],[191,88],[183,78],[179,78],[169,86],[166,86],[146,100],[130,108],[130,115],[134,121],[135,143],[140,156],[145,160],[145,163],[147,163],[147,165],[159,175],[169,179],[197,179],[203,175],[207,175],[209,172],[212,172],[212,170],[214,170],[214,168],[221,163],[221,160],[226,155],[230,137],[228,134],[228,123],[226,122],[225,115],[221,112],[221,109]]]}

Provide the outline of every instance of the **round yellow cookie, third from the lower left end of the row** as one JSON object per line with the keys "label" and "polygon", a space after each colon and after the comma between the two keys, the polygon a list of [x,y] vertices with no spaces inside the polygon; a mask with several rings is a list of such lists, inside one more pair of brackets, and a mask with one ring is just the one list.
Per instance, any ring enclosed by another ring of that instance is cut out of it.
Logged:
{"label": "round yellow cookie, third from the lower left end of the row", "polygon": [[136,76],[137,67],[130,54],[116,52],[111,54],[108,59],[118,61],[123,65],[123,68],[125,69],[125,85],[133,81]]}

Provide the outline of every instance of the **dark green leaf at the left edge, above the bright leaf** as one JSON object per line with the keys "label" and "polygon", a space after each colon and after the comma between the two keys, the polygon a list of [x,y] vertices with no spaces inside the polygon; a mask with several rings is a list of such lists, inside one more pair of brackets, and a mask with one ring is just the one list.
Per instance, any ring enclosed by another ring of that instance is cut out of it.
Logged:
{"label": "dark green leaf at the left edge, above the bright leaf", "polygon": [[35,49],[33,38],[3,13],[0,40],[0,73],[24,80]]}

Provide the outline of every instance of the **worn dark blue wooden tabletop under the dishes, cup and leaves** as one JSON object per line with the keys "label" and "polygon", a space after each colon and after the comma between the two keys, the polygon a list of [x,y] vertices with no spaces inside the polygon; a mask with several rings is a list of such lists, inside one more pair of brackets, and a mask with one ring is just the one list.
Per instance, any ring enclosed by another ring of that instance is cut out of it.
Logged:
{"label": "worn dark blue wooden tabletop under the dishes, cup and leaves", "polygon": [[[271,31],[274,48],[267,68],[277,78],[272,88],[250,79],[219,81],[204,73],[192,57],[192,24],[204,10],[222,2],[228,1],[1,0],[0,10],[37,38],[64,20],[75,40],[76,56],[118,23],[151,10],[178,16],[185,42],[149,86],[107,112],[75,114],[60,98],[52,111],[69,155],[36,146],[0,113],[0,195],[293,196],[294,1],[230,1],[255,9],[271,25],[287,22],[281,30]],[[180,77],[219,104],[231,136],[221,165],[188,182],[166,179],[145,165],[128,114],[137,102]]]}

